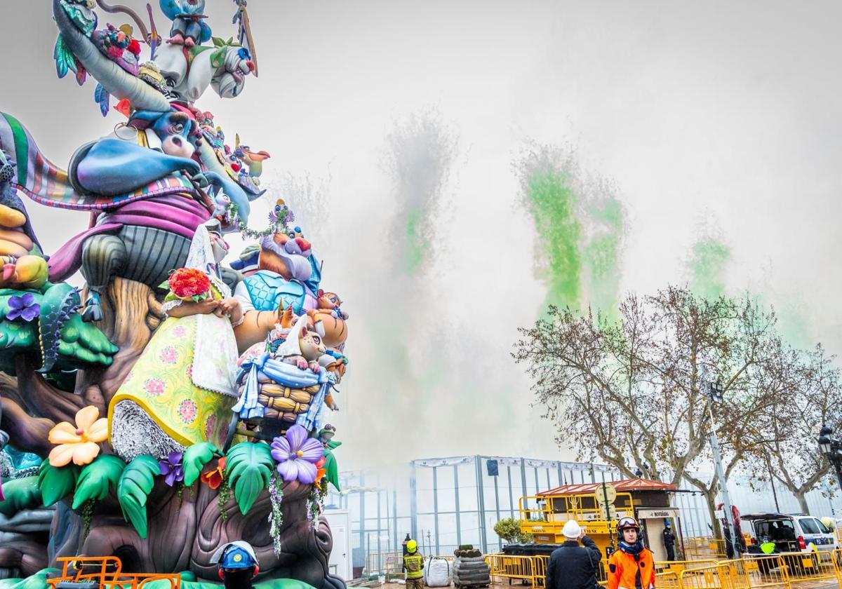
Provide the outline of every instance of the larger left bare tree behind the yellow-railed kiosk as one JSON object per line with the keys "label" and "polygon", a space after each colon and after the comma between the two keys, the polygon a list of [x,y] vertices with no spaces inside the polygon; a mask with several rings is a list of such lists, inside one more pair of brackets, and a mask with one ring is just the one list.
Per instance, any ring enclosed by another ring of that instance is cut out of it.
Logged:
{"label": "larger left bare tree behind the yellow-railed kiosk", "polygon": [[559,443],[573,430],[565,439],[580,459],[599,457],[629,477],[639,469],[675,485],[689,480],[705,492],[712,521],[719,481],[693,475],[709,460],[706,389],[722,386],[716,427],[727,476],[763,441],[746,432],[770,412],[758,382],[775,353],[774,325],[748,296],[705,300],[669,287],[626,296],[618,322],[551,307],[520,330],[513,356],[533,375]]}

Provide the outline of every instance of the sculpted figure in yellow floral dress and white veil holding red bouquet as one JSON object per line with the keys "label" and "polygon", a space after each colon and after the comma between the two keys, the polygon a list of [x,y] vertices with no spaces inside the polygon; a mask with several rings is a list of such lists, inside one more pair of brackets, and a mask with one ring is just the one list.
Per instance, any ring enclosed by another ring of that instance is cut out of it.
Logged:
{"label": "sculpted figure in yellow floral dress and white veil holding red bouquet", "polygon": [[185,268],[168,281],[167,319],[109,405],[111,445],[129,461],[163,459],[187,446],[222,448],[237,402],[237,342],[242,308],[222,282],[227,246],[216,220],[196,231]]}

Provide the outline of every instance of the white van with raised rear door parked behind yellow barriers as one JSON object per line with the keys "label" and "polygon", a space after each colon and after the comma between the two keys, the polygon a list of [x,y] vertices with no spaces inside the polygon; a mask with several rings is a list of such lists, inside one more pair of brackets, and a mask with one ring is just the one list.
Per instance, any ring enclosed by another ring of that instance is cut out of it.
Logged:
{"label": "white van with raised rear door parked behind yellow barriers", "polygon": [[[775,552],[829,552],[838,548],[834,531],[818,517],[785,513],[752,513],[740,517],[749,523],[751,545],[775,544]],[[751,550],[749,550],[751,551]]]}

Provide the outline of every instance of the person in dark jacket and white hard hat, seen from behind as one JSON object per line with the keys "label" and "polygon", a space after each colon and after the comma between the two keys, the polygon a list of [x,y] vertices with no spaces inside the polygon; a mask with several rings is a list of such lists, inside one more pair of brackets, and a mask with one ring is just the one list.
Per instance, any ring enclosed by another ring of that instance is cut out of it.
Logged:
{"label": "person in dark jacket and white hard hat, seen from behind", "polygon": [[594,589],[602,559],[599,547],[572,519],[564,524],[562,534],[564,544],[550,555],[544,586],[546,589]]}

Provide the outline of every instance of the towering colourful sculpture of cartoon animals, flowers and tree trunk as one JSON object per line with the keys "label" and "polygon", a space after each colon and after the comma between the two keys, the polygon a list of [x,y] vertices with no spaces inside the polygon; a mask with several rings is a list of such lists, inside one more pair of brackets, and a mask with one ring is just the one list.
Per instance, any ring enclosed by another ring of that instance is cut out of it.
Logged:
{"label": "towering colourful sculpture of cartoon animals, flowers and tree trunk", "polygon": [[[260,188],[269,153],[230,146],[195,105],[257,75],[246,3],[223,40],[203,0],[161,0],[164,40],[127,9],[103,23],[93,0],[51,1],[58,76],[93,78],[100,112],[123,119],[64,169],[0,114],[0,583],[110,555],[219,582],[242,543],[256,582],[342,589],[321,501],[338,488],[324,421],[349,316],[295,203]],[[261,197],[267,226],[250,215]],[[92,222],[44,252],[33,206]],[[235,231],[250,245],[232,268]],[[83,289],[64,282],[77,270]]]}

